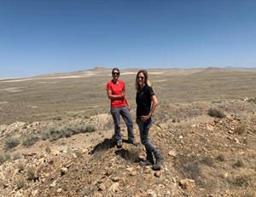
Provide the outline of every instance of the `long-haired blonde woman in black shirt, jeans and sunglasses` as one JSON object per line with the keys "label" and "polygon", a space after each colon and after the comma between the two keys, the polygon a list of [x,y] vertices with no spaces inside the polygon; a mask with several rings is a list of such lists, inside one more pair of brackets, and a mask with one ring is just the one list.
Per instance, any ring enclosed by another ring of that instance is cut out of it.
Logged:
{"label": "long-haired blonde woman in black shirt, jeans and sunglasses", "polygon": [[[152,125],[152,113],[158,104],[156,96],[154,96],[154,91],[149,82],[148,72],[146,70],[140,70],[137,72],[136,77],[136,103],[137,103],[137,119],[136,123],[140,130],[141,142],[146,148],[147,159],[141,161],[139,164],[141,166],[153,165],[153,169],[159,169],[160,165],[166,159],[161,155],[154,145],[149,141],[148,132]],[[153,101],[152,107],[151,102]],[[156,159],[154,164],[153,155]]]}

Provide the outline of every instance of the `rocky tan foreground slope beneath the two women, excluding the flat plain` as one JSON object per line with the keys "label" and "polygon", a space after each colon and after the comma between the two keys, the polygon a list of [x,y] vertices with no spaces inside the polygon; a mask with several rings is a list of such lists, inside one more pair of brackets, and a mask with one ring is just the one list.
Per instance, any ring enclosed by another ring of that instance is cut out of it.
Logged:
{"label": "rocky tan foreground slope beneath the two women, excluding the flat plain", "polygon": [[[226,118],[209,116],[210,108]],[[0,165],[0,196],[256,196],[255,111],[254,101],[160,105],[149,132],[166,157],[159,171],[138,165],[142,144],[124,140],[116,148],[109,113],[1,125],[0,153],[12,159]],[[135,120],[134,109],[131,115]],[[50,127],[87,123],[96,130],[53,142],[40,138]],[[124,122],[121,128],[127,139]],[[139,142],[135,123],[134,130]],[[31,147],[4,147],[9,136],[22,142],[32,133],[39,140]]]}

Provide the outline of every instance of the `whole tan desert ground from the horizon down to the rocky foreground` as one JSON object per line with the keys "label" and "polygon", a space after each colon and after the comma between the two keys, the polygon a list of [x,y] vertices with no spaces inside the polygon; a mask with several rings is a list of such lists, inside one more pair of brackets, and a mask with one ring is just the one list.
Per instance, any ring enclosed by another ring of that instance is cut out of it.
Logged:
{"label": "whole tan desert ground from the horizon down to the rocky foreground", "polygon": [[[119,77],[137,142],[139,70],[120,70]],[[105,90],[111,72],[0,78],[0,196],[256,196],[255,70],[148,69],[159,101],[149,137],[166,156],[159,171],[138,165],[143,145],[125,143],[123,121],[124,146],[115,146]],[[44,137],[86,124],[94,130]],[[34,142],[25,142],[28,135]]]}

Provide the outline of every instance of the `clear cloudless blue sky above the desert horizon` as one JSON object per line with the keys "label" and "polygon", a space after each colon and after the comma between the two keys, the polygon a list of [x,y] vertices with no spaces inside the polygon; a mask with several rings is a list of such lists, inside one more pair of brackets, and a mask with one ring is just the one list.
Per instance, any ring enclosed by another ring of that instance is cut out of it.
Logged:
{"label": "clear cloudless blue sky above the desert horizon", "polygon": [[0,78],[256,67],[256,1],[0,1]]}

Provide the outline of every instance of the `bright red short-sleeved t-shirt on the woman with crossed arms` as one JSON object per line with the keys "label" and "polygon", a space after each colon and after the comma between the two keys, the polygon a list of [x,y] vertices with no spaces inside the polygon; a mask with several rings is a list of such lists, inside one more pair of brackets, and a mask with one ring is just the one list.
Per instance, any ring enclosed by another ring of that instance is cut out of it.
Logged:
{"label": "bright red short-sleeved t-shirt on the woman with crossed arms", "polygon": [[[113,84],[113,80],[109,81],[106,90],[111,90],[112,95],[121,95],[125,90],[125,83],[119,80],[118,84]],[[124,98],[110,99],[111,107],[124,107],[126,105]]]}

